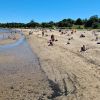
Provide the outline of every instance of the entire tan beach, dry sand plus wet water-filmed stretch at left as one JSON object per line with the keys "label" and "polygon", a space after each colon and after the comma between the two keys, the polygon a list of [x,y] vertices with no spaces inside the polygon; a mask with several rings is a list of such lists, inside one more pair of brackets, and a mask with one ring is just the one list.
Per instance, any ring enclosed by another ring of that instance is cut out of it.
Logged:
{"label": "entire tan beach, dry sand plus wet water-filmed stretch at left", "polygon": [[22,31],[26,41],[0,51],[0,100],[100,100],[100,32]]}

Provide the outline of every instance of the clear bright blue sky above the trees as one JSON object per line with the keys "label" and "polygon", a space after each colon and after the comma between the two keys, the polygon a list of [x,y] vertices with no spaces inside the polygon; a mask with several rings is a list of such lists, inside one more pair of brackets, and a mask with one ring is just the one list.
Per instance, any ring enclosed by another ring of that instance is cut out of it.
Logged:
{"label": "clear bright blue sky above the trees", "polygon": [[100,16],[100,0],[0,0],[0,22],[60,21]]}

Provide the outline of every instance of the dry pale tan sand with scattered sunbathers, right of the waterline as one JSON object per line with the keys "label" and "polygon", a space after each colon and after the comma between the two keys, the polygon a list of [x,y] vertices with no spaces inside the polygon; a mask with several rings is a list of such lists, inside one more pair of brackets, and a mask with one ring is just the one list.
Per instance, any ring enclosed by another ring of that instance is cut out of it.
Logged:
{"label": "dry pale tan sand with scattered sunbathers, right of the waterline", "polygon": [[[28,34],[29,30],[23,30]],[[55,100],[100,100],[100,32],[99,40],[95,41],[92,31],[77,31],[73,35],[70,31],[60,35],[58,31],[48,31],[41,36],[41,31],[28,36],[28,42],[38,55],[43,71],[56,84]],[[48,46],[50,35],[54,34],[57,42]],[[67,36],[69,34],[69,36]],[[84,34],[85,38],[80,38]],[[68,39],[73,37],[70,40]],[[80,52],[82,45],[87,51]],[[54,92],[55,92],[54,91]]]}

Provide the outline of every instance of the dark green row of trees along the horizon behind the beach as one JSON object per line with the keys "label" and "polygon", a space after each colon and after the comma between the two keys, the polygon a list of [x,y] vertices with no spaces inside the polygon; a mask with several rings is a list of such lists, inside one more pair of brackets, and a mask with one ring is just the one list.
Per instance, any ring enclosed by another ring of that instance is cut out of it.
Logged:
{"label": "dark green row of trees along the horizon behind the beach", "polygon": [[29,23],[0,23],[0,27],[3,28],[92,28],[99,29],[100,28],[100,18],[97,15],[91,16],[89,19],[81,19],[73,20],[71,18],[63,19],[59,22],[43,22],[38,23],[35,21],[30,21]]}

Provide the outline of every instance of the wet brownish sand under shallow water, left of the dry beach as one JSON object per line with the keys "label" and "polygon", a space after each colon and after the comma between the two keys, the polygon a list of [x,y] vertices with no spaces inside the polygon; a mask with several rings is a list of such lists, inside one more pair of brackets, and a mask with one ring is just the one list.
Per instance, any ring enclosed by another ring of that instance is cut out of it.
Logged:
{"label": "wet brownish sand under shallow water, left of the dry beach", "polygon": [[0,49],[0,100],[46,100],[51,93],[48,78],[25,40]]}

